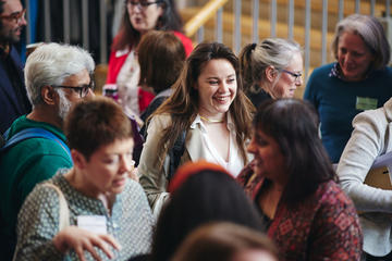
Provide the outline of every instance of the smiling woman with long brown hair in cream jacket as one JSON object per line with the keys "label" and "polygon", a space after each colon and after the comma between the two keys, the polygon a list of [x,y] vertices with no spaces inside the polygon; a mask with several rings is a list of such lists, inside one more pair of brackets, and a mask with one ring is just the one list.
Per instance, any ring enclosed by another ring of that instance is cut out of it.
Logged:
{"label": "smiling woman with long brown hair in cream jacket", "polygon": [[243,91],[238,59],[230,48],[198,45],[172,88],[152,114],[138,166],[151,207],[166,201],[168,182],[184,162],[205,159],[235,176],[248,162],[245,140],[250,138],[254,107]]}

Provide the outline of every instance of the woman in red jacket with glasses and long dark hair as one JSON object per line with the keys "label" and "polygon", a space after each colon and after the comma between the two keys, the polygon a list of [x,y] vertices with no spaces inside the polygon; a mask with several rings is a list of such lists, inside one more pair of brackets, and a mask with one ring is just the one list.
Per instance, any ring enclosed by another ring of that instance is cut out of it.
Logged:
{"label": "woman in red jacket with glasses and long dark hair", "polygon": [[125,112],[139,115],[154,95],[138,88],[139,64],[136,47],[150,30],[172,32],[182,41],[188,55],[191,39],[183,35],[183,24],[174,0],[125,0],[119,34],[114,37],[109,60],[107,84],[115,84]]}

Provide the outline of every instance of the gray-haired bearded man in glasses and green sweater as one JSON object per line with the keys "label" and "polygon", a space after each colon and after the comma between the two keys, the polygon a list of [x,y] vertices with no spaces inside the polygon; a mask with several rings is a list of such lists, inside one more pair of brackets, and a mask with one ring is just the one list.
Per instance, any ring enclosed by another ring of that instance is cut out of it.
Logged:
{"label": "gray-haired bearded man in glasses and green sweater", "polygon": [[27,59],[25,83],[33,111],[17,117],[7,140],[22,132],[46,132],[24,139],[0,154],[0,257],[11,260],[17,212],[34,186],[72,160],[62,132],[71,105],[93,96],[94,61],[88,52],[66,45],[38,47]]}

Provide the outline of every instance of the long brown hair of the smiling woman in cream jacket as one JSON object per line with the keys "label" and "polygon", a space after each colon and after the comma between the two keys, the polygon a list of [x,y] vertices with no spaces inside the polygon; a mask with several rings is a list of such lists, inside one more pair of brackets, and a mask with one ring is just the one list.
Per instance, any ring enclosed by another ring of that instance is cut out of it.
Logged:
{"label": "long brown hair of the smiling woman in cream jacket", "polygon": [[237,92],[230,107],[236,133],[236,144],[245,163],[247,163],[244,140],[250,138],[252,113],[255,111],[250,100],[245,96],[238,70],[238,59],[233,51],[219,42],[199,44],[185,62],[180,78],[172,86],[173,94],[151,115],[170,114],[171,123],[163,129],[162,139],[158,144],[158,159],[160,167],[163,164],[164,156],[174,145],[179,135],[191,127],[198,113],[198,91],[194,88],[197,85],[201,70],[207,62],[213,59],[228,60],[235,70],[237,80]]}

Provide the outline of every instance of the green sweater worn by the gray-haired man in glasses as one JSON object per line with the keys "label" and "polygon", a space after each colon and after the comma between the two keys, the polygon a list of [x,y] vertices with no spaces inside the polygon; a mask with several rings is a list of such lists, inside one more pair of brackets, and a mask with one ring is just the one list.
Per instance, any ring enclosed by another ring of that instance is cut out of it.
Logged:
{"label": "green sweater worn by the gray-haired man in glasses", "polygon": [[[25,115],[11,125],[9,138],[29,127],[45,128],[65,141],[60,128],[28,120]],[[0,157],[0,257],[4,260],[12,259],[17,213],[27,195],[37,183],[52,177],[58,169],[72,165],[60,144],[46,138],[25,139]]]}

